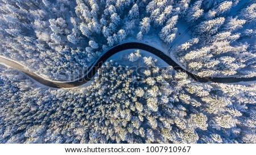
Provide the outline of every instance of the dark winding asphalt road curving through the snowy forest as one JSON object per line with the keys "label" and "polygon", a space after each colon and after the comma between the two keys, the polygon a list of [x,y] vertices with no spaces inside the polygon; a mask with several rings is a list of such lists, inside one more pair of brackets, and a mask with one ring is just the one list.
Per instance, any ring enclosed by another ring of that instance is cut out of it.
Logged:
{"label": "dark winding asphalt road curving through the snowy forest", "polygon": [[199,77],[195,74],[192,74],[192,73],[188,72],[187,70],[184,70],[183,68],[181,68],[181,66],[179,66],[174,60],[172,60],[172,58],[170,58],[169,56],[164,54],[162,51],[160,51],[154,47],[151,47],[150,45],[143,44],[143,43],[125,43],[125,44],[117,45],[117,46],[113,47],[112,49],[109,49],[109,51],[106,52],[103,56],[101,56],[100,59],[96,62],[96,64],[94,66],[92,66],[92,69],[90,70],[90,72],[88,72],[87,75],[85,75],[84,77],[80,78],[77,81],[65,82],[65,83],[48,81],[47,79],[44,79],[44,78],[36,75],[35,73],[28,71],[27,69],[24,68],[24,66],[19,65],[14,61],[7,60],[5,58],[0,57],[0,62],[3,62],[4,64],[6,64],[8,66],[11,66],[13,68],[16,68],[16,69],[22,71],[23,73],[27,74],[28,76],[30,76],[31,78],[35,79],[36,81],[42,83],[43,85],[46,85],[49,87],[55,87],[55,88],[61,88],[61,87],[71,88],[71,87],[77,87],[77,86],[83,85],[84,83],[90,81],[90,79],[92,79],[94,77],[94,75],[97,73],[98,68],[100,68],[102,66],[102,64],[106,60],[108,60],[109,57],[111,57],[115,53],[118,53],[125,49],[142,49],[144,51],[148,51],[148,52],[158,56],[159,58],[162,58],[162,60],[166,61],[168,65],[173,66],[175,70],[180,70],[181,72],[185,72],[188,74],[189,77],[191,77],[195,81],[199,81],[199,82],[212,81],[212,82],[218,82],[218,83],[236,83],[236,82],[241,82],[241,81],[255,81],[256,80],[256,77],[252,77],[252,78],[204,77],[204,78],[201,78],[201,77]]}

